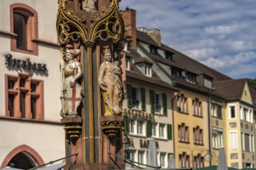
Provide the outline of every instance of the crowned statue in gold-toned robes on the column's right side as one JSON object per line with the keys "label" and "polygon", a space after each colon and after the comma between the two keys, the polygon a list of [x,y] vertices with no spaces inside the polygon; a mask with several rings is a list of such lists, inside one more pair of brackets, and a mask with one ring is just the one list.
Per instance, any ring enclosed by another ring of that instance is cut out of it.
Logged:
{"label": "crowned statue in gold-toned robes on the column's right side", "polygon": [[123,81],[119,62],[112,62],[110,49],[103,51],[105,61],[99,69],[99,87],[105,104],[105,116],[122,114]]}

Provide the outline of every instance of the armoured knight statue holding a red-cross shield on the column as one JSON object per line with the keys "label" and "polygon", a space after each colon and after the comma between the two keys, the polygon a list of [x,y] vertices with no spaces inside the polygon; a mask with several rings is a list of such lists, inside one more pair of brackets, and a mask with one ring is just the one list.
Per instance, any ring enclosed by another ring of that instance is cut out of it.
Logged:
{"label": "armoured knight statue holding a red-cross shield on the column", "polygon": [[64,49],[63,63],[61,63],[61,116],[78,116],[78,106],[81,102],[80,49],[67,45]]}

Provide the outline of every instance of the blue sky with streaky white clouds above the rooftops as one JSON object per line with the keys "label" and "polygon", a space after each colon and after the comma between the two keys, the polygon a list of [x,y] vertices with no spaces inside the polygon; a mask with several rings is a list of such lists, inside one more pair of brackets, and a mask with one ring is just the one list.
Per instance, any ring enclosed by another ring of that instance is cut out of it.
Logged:
{"label": "blue sky with streaky white clouds above the rooftops", "polygon": [[256,0],[122,0],[137,27],[234,79],[256,77]]}

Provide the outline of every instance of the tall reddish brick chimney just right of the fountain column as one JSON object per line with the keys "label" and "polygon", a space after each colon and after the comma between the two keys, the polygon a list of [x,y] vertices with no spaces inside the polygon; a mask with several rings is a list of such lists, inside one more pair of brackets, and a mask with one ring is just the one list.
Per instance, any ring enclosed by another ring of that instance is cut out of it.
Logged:
{"label": "tall reddish brick chimney just right of the fountain column", "polygon": [[131,47],[132,49],[137,49],[136,11],[126,8],[126,10],[123,11],[123,23],[125,36],[131,37]]}

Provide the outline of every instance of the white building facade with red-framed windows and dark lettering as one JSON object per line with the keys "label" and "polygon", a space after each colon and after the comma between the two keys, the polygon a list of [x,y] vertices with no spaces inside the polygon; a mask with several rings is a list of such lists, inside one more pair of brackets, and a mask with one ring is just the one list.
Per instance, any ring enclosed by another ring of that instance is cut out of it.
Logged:
{"label": "white building facade with red-framed windows and dark lettering", "polygon": [[57,1],[0,8],[0,167],[32,168],[65,155]]}

